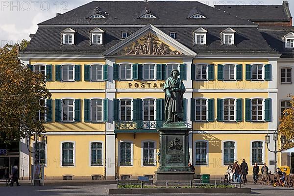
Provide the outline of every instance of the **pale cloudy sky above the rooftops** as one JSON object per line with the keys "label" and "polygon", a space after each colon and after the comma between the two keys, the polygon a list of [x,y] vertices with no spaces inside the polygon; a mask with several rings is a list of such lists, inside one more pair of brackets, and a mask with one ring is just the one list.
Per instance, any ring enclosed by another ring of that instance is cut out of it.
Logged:
{"label": "pale cloudy sky above the rooftops", "polygon": [[[0,47],[7,43],[19,43],[29,40],[29,34],[35,33],[38,23],[65,13],[92,0],[0,0]],[[118,1],[118,0],[117,0]],[[137,0],[138,1],[138,0]],[[143,1],[143,0],[142,0]],[[283,0],[198,0],[213,6],[221,5],[281,5]],[[292,15],[294,2],[288,0]]]}

